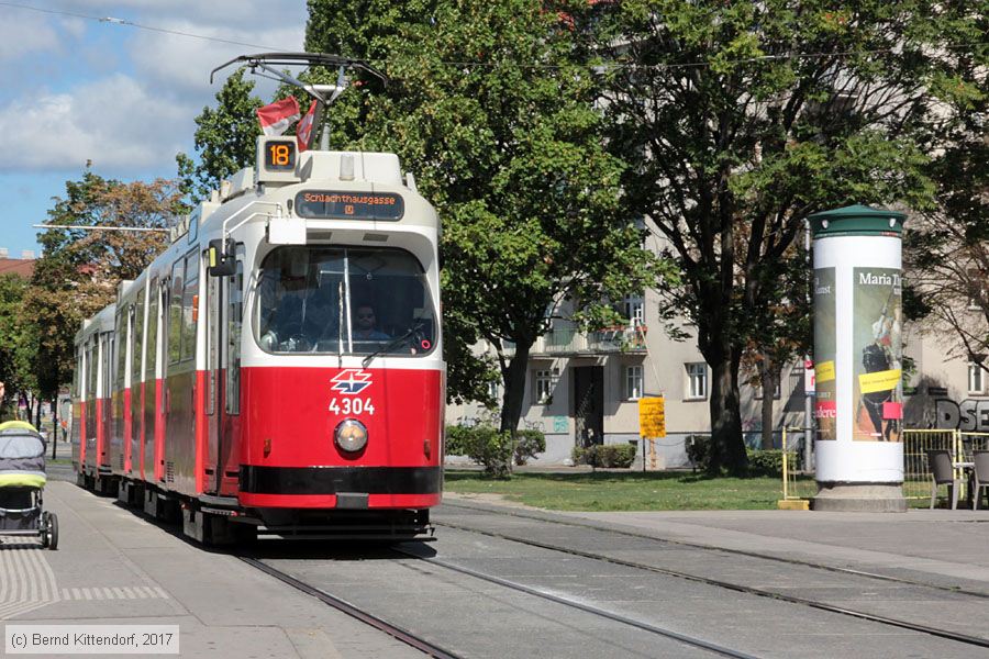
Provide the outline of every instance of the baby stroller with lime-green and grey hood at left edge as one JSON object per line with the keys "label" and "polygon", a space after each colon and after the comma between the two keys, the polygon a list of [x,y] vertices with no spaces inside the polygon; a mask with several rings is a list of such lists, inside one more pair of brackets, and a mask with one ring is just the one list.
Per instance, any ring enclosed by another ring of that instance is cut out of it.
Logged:
{"label": "baby stroller with lime-green and grey hood at left edge", "polygon": [[45,439],[23,421],[0,423],[0,537],[41,537],[58,548],[58,517],[44,510]]}

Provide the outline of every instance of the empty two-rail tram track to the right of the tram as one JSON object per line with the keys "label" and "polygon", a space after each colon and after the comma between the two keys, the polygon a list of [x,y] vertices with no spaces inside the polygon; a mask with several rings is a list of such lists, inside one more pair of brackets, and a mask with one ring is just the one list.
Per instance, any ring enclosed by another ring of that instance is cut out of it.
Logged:
{"label": "empty two-rail tram track to the right of the tram", "polygon": [[[763,557],[763,556],[755,555],[752,552],[746,552],[746,551],[722,549],[720,547],[712,547],[712,546],[698,545],[698,544],[691,544],[691,543],[681,543],[681,541],[676,541],[676,540],[666,540],[664,538],[657,538],[656,536],[651,536],[647,534],[636,534],[633,532],[619,532],[619,530],[614,530],[612,528],[604,528],[604,527],[594,526],[591,524],[581,524],[581,523],[570,524],[569,522],[549,520],[549,518],[545,518],[542,516],[519,515],[514,512],[503,512],[502,513],[502,512],[490,511],[488,509],[478,509],[478,507],[474,507],[474,506],[457,506],[455,504],[453,504],[453,505],[446,504],[446,505],[449,505],[451,507],[462,507],[462,509],[473,510],[473,511],[480,510],[482,512],[494,514],[494,515],[511,515],[511,516],[529,517],[529,518],[537,520],[541,522],[554,522],[554,523],[558,523],[558,524],[563,524],[563,525],[592,528],[594,530],[602,532],[602,533],[616,533],[620,535],[626,535],[626,536],[642,538],[642,539],[653,539],[653,540],[658,540],[658,541],[666,541],[666,543],[670,543],[670,544],[677,544],[677,545],[682,545],[686,547],[691,547],[694,549],[705,549],[705,550],[711,550],[711,551],[725,551],[729,554],[741,554],[741,555],[744,555],[749,558],[765,558],[767,560],[788,562],[788,563],[801,566],[801,567],[820,568],[820,569],[823,569],[826,571],[841,572],[841,573],[845,573],[845,574],[854,576],[854,577],[858,577],[858,578],[877,579],[877,580],[881,580],[881,581],[890,581],[890,582],[900,583],[900,584],[909,584],[909,585],[913,585],[913,587],[918,587],[918,588],[930,588],[933,590],[947,591],[955,595],[963,594],[963,595],[971,595],[974,597],[986,599],[985,593],[960,591],[957,589],[948,589],[945,587],[938,587],[936,584],[914,582],[911,580],[898,579],[894,577],[887,577],[887,576],[882,576],[882,574],[873,574],[869,572],[843,569],[843,568],[837,568],[837,567],[833,567],[833,566],[822,566],[822,565],[812,563],[809,561],[781,559],[779,557]],[[477,533],[480,535],[485,535],[485,536],[501,539],[501,540],[519,543],[519,544],[530,546],[530,547],[536,547],[536,548],[545,549],[545,550],[549,550],[549,551],[557,551],[557,552],[568,555],[568,556],[575,556],[575,557],[580,557],[580,558],[586,558],[586,559],[591,559],[591,560],[599,560],[599,561],[609,562],[609,563],[616,565],[616,566],[622,566],[625,568],[638,569],[638,570],[643,570],[643,571],[647,571],[647,572],[652,572],[652,573],[656,573],[656,574],[663,574],[666,577],[684,579],[686,581],[691,581],[691,582],[696,582],[696,583],[703,583],[707,585],[722,588],[725,590],[744,593],[744,594],[748,594],[748,595],[754,595],[754,596],[758,596],[758,597],[771,599],[771,600],[776,600],[776,601],[780,601],[780,602],[787,602],[790,604],[799,604],[799,605],[808,606],[811,608],[816,608],[820,611],[826,611],[830,613],[851,616],[851,617],[855,617],[858,619],[878,623],[881,625],[887,625],[887,626],[891,626],[891,627],[897,627],[897,628],[901,628],[901,629],[926,634],[930,636],[935,636],[938,638],[944,638],[944,639],[953,640],[953,641],[969,645],[969,646],[989,648],[989,638],[971,636],[968,634],[953,632],[951,629],[932,627],[930,625],[923,625],[923,624],[911,622],[911,621],[904,621],[904,619],[894,618],[894,617],[890,617],[890,616],[869,613],[866,611],[859,611],[859,610],[848,608],[845,606],[829,604],[826,602],[821,602],[819,600],[799,597],[796,595],[789,595],[789,594],[781,593],[778,591],[754,588],[751,585],[744,585],[744,584],[740,584],[740,583],[732,583],[732,582],[724,581],[721,579],[712,579],[710,577],[703,577],[700,574],[692,574],[689,572],[684,572],[681,570],[674,570],[674,569],[668,569],[668,568],[662,568],[658,566],[651,566],[647,563],[640,562],[640,561],[625,560],[625,559],[607,556],[607,555],[593,552],[593,551],[584,551],[580,549],[575,549],[573,547],[564,547],[560,545],[554,545],[552,543],[533,540],[531,538],[518,537],[518,536],[513,536],[513,535],[509,535],[509,534],[504,534],[504,533],[493,532],[490,529],[471,527],[471,526],[467,526],[464,524],[455,524],[455,523],[451,523],[451,522],[437,522],[437,521],[434,521],[434,524],[436,524],[437,526],[444,526],[447,528],[453,528],[453,529],[457,529],[457,530],[462,530],[462,532],[466,532],[466,533]]]}

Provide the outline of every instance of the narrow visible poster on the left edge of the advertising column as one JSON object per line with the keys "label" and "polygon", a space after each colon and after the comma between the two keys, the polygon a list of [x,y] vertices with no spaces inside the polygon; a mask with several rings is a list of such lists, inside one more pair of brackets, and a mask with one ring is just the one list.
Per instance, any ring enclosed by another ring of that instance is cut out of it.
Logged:
{"label": "narrow visible poster on the left edge of the advertising column", "polygon": [[814,418],[818,438],[835,439],[834,268],[814,269]]}

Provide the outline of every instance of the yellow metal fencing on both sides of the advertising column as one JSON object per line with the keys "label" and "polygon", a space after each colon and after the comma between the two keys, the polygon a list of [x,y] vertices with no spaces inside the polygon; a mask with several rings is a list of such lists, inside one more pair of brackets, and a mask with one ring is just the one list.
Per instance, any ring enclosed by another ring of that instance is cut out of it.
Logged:
{"label": "yellow metal fencing on both sides of the advertising column", "polygon": [[[802,463],[798,449],[800,437],[794,432],[802,428],[784,428],[782,444],[787,447],[782,460],[784,500],[812,499],[818,491],[812,474],[800,470]],[[927,463],[929,450],[949,450],[955,462],[970,462],[973,450],[989,450],[989,433],[967,433],[962,431],[903,431],[903,496],[907,499],[931,498],[931,466]],[[968,484],[962,470],[956,470],[955,478],[960,479],[963,487]]]}

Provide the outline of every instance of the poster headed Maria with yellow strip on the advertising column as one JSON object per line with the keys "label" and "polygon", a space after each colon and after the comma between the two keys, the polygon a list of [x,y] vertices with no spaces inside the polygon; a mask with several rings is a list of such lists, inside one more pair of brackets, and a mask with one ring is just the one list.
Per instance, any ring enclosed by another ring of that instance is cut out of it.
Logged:
{"label": "poster headed Maria with yellow strip on the advertising column", "polygon": [[857,442],[899,442],[903,421],[900,270],[854,268],[853,395]]}

